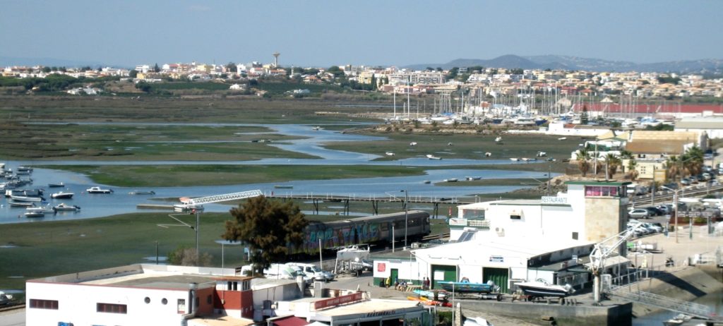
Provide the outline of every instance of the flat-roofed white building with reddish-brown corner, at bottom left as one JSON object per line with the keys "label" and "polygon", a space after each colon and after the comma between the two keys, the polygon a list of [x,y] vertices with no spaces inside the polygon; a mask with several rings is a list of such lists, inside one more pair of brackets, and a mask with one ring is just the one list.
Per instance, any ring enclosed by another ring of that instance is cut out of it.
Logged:
{"label": "flat-roofed white building with reddish-brown corner, at bottom left", "polygon": [[252,278],[234,274],[234,269],[142,264],[28,280],[25,321],[176,326],[218,314],[250,321]]}

